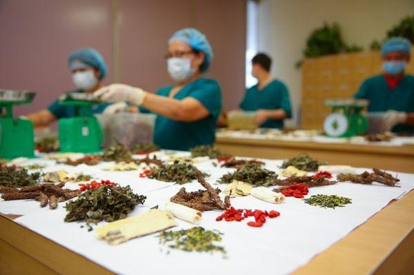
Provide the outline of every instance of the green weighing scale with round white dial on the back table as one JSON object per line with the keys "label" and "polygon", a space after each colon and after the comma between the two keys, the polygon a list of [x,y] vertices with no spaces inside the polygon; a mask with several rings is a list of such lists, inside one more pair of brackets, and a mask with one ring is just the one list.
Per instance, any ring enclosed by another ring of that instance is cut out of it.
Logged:
{"label": "green weighing scale with round white dial on the back table", "polygon": [[368,106],[364,99],[327,99],[325,105],[332,108],[326,116],[324,131],[331,137],[352,137],[365,134],[368,121],[362,111]]}

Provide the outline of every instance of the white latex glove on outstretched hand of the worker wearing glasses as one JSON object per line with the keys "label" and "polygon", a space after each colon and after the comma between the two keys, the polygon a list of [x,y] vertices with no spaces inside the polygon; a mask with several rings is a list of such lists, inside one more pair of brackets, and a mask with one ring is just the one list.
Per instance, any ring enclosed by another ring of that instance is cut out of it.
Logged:
{"label": "white latex glove on outstretched hand of the worker wearing glasses", "polygon": [[93,95],[100,101],[119,102],[126,101],[134,105],[141,105],[146,92],[140,88],[125,84],[111,84],[100,88]]}

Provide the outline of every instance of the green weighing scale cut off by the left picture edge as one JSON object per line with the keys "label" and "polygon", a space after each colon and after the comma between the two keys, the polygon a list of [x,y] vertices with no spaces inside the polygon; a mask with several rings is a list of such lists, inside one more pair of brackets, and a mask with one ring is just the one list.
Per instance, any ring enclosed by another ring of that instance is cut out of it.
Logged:
{"label": "green weighing scale cut off by the left picture edge", "polygon": [[34,156],[33,123],[14,119],[13,105],[31,103],[35,95],[28,91],[0,90],[0,158]]}

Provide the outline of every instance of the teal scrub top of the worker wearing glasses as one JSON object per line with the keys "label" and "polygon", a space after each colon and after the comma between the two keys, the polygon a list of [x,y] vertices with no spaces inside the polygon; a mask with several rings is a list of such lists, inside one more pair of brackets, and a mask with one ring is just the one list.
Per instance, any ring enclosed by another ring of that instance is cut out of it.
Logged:
{"label": "teal scrub top of the worker wearing glasses", "polygon": [[[157,91],[160,96],[168,96],[174,86]],[[214,79],[197,79],[185,85],[174,99],[193,97],[210,112],[204,119],[193,122],[174,121],[165,116],[155,120],[154,143],[163,149],[187,151],[197,145],[212,145],[215,141],[215,127],[221,110],[221,88]],[[140,107],[141,112],[150,112]]]}

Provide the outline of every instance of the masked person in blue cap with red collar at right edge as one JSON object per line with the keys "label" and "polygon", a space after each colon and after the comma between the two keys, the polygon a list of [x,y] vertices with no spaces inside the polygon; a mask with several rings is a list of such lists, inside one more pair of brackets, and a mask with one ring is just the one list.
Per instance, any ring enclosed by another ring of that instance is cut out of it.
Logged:
{"label": "masked person in blue cap with red collar at right edge", "polygon": [[414,134],[414,76],[405,74],[411,43],[402,37],[384,42],[381,49],[384,73],[366,79],[355,94],[368,99],[368,112],[386,112],[384,130]]}

